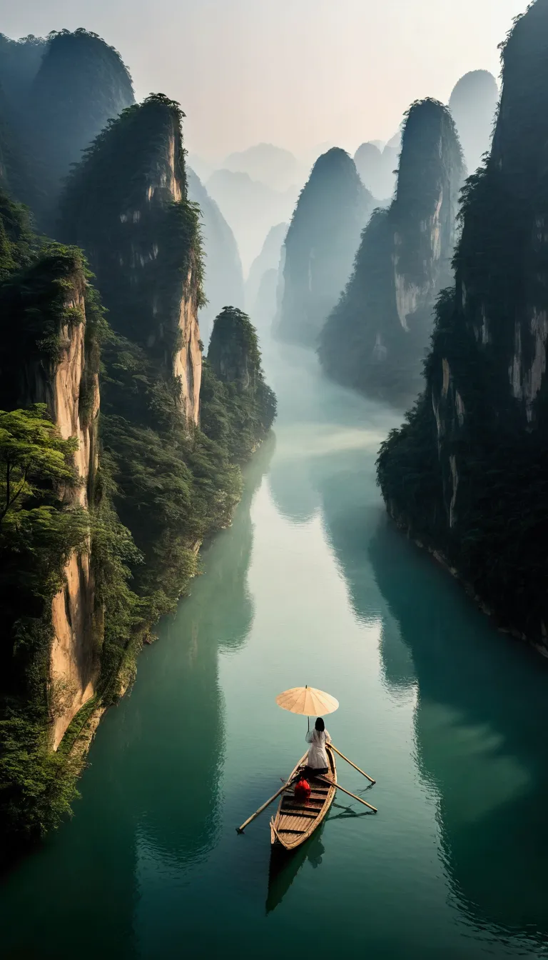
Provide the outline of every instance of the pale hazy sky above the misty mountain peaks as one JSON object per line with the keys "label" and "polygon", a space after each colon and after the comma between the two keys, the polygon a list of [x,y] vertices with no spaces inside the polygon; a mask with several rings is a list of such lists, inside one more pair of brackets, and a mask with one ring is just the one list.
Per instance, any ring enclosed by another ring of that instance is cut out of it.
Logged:
{"label": "pale hazy sky above the misty mountain peaks", "polygon": [[527,0],[0,0],[8,36],[85,27],[131,69],[137,98],[179,100],[210,159],[267,141],[308,156],[388,139],[417,98],[467,70],[498,77]]}

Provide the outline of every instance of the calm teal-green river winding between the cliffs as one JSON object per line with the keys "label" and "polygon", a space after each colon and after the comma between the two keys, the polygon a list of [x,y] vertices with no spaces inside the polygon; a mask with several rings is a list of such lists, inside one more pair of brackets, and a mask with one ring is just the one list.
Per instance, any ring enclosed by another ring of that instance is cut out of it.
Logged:
{"label": "calm teal-green river winding between the cliffs", "polygon": [[[3,957],[548,955],[548,664],[391,528],[374,461],[398,417],[289,352],[267,357],[275,435],[73,820],[3,878]],[[340,700],[328,730],[379,813],[339,794],[269,878],[269,813],[235,827],[304,753],[274,703],[298,684]]]}

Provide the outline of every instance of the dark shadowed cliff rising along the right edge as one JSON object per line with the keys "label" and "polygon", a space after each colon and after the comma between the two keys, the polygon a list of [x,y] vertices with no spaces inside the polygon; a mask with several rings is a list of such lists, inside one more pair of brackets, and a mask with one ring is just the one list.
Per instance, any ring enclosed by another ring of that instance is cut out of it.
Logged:
{"label": "dark shadowed cliff rising along the right edge", "polygon": [[503,47],[492,151],[467,182],[425,392],[379,458],[397,522],[444,554],[500,623],[543,647],[547,30],[548,2],[536,0]]}

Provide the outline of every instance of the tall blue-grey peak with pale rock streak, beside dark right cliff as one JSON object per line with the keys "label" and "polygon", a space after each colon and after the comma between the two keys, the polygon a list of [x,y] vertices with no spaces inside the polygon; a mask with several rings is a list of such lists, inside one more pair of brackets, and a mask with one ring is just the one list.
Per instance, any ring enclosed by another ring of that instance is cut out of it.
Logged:
{"label": "tall blue-grey peak with pale rock streak, beside dark right cliff", "polygon": [[371,217],[320,338],[324,371],[345,386],[393,401],[419,389],[432,308],[451,276],[463,179],[449,111],[435,100],[414,104],[393,204]]}

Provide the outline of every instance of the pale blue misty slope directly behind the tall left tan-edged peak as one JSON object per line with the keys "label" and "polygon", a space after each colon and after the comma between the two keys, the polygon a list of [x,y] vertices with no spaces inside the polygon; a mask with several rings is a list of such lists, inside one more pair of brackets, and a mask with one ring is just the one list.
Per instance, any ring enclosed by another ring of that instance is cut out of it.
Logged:
{"label": "pale blue misty slope directly behind the tall left tan-edged peak", "polygon": [[201,180],[186,167],[188,199],[199,204],[203,242],[203,288],[206,303],[200,308],[199,320],[203,343],[209,340],[213,321],[226,303],[244,305],[242,263],[232,230],[218,205],[209,196]]}

